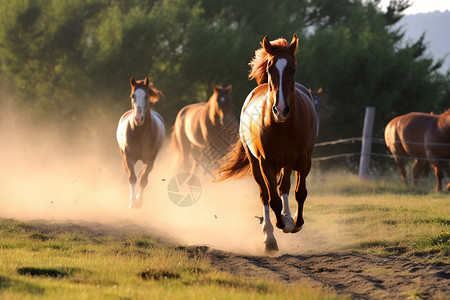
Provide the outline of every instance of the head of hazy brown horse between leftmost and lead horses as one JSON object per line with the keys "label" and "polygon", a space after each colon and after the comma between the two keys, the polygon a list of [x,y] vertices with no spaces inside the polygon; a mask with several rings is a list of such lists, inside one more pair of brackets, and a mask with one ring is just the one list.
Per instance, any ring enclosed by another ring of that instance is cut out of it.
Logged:
{"label": "head of hazy brown horse between leftmost and lead horses", "polygon": [[233,121],[234,116],[231,110],[231,85],[222,88],[219,85],[214,86],[214,92],[209,102],[211,105],[210,119],[216,124],[216,119],[219,120],[221,126],[226,126]]}

